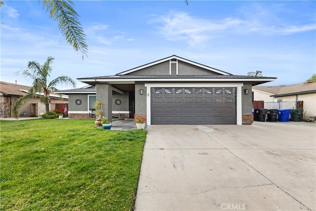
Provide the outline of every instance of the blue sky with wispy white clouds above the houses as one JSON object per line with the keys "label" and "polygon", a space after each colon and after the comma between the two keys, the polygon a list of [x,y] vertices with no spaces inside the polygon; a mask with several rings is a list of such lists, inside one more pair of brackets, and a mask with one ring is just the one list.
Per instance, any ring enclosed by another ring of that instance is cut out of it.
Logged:
{"label": "blue sky with wispy white clouds above the houses", "polygon": [[[300,84],[316,73],[316,1],[74,1],[88,57],[65,41],[39,1],[1,9],[1,81],[28,61],[55,58],[51,79],[107,76],[171,55],[234,75],[260,70],[263,85]],[[68,87],[59,86],[60,89]]]}

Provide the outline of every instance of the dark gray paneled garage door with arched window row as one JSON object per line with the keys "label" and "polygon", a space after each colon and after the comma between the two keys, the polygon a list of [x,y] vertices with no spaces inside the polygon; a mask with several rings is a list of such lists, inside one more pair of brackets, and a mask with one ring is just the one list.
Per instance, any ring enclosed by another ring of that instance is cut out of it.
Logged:
{"label": "dark gray paneled garage door with arched window row", "polygon": [[236,125],[236,88],[151,88],[153,125]]}

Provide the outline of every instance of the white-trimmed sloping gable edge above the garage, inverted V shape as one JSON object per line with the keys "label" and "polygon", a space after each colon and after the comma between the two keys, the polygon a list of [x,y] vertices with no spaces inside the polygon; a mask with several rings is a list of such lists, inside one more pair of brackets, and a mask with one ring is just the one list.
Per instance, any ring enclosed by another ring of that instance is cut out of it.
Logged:
{"label": "white-trimmed sloping gable edge above the garage, inverted V shape", "polygon": [[191,60],[188,60],[188,59],[185,59],[185,58],[176,56],[176,55],[172,55],[172,56],[169,56],[169,57],[160,59],[160,60],[158,60],[158,61],[151,62],[151,63],[145,64],[145,65],[142,65],[142,66],[139,66],[139,67],[136,67],[136,68],[133,68],[133,69],[130,69],[130,70],[127,70],[127,71],[118,73],[118,74],[116,74],[116,75],[118,75],[118,76],[120,76],[120,75],[127,75],[127,74],[130,74],[130,73],[133,73],[133,72],[136,72],[136,71],[139,71],[139,70],[148,68],[148,67],[152,67],[152,66],[154,66],[154,65],[161,64],[161,63],[163,63],[163,62],[166,62],[166,61],[169,61],[169,60],[172,60],[172,59],[177,59],[177,60],[179,60],[179,61],[182,61],[182,62],[191,64],[191,65],[197,66],[197,67],[199,67],[199,68],[203,68],[203,69],[208,70],[208,71],[212,71],[212,72],[217,73],[217,74],[220,74],[220,75],[232,75],[232,74],[230,74],[230,73],[227,73],[227,72],[224,72],[224,71],[221,71],[221,70],[218,70],[218,69],[215,69],[215,68],[212,68],[212,67],[203,65],[203,64],[199,64],[199,63],[197,63],[197,62],[194,62],[194,61],[191,61]]}

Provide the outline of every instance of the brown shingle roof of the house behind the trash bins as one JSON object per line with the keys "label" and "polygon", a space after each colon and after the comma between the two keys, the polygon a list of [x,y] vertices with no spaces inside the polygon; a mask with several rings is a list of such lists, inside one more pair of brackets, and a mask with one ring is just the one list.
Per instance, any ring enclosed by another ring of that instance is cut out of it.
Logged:
{"label": "brown shingle roof of the house behind the trash bins", "polygon": [[305,92],[316,92],[316,83],[303,83],[288,86],[253,86],[253,89],[265,91],[273,95],[291,95]]}

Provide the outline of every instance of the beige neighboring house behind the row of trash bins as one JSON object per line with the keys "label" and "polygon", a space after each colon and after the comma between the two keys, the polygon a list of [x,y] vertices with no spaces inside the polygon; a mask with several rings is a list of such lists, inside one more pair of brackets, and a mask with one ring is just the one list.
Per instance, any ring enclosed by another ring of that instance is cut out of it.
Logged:
{"label": "beige neighboring house behind the row of trash bins", "polygon": [[[305,82],[303,84],[288,86],[253,86],[253,99],[263,100],[265,107],[272,103],[286,103],[281,109],[295,109],[299,101],[303,101],[303,119],[308,120],[316,116],[316,83]],[[278,108],[279,109],[279,108]]]}

